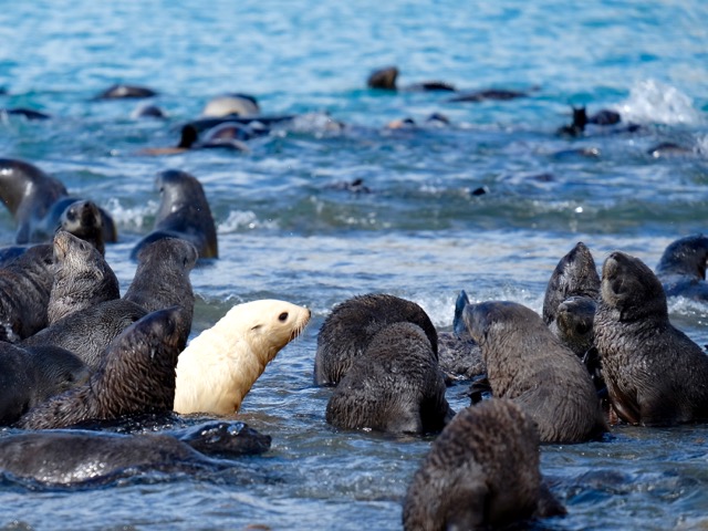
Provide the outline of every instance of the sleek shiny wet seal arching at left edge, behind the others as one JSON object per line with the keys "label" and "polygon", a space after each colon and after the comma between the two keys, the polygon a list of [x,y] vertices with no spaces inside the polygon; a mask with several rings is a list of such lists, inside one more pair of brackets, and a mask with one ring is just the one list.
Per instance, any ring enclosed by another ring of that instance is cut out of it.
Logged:
{"label": "sleek shiny wet seal arching at left edge, behind the others", "polygon": [[[64,185],[24,160],[0,158],[0,200],[18,225],[15,243],[42,242],[54,235],[62,214],[80,200]],[[103,209],[103,241],[115,242],[117,232],[113,218]]]}

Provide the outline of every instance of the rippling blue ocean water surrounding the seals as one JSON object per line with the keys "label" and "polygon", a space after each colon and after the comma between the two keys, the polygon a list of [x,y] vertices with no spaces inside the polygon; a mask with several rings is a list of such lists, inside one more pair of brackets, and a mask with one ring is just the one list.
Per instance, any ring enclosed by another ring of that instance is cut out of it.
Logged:
{"label": "rippling blue ocean water surrounding the seals", "polygon": [[[400,500],[430,438],[342,433],[312,385],[316,334],[332,306],[366,292],[418,302],[449,330],[457,293],[540,311],[558,260],[584,241],[655,266],[674,239],[706,230],[708,6],[699,0],[521,2],[8,3],[0,12],[0,154],[62,179],[108,209],[106,258],[125,291],[129,250],[157,211],[155,175],[204,185],[220,258],[197,268],[192,333],[233,304],[279,298],[313,319],[267,367],[238,418],[273,438],[226,471],[127,476],[73,489],[0,480],[0,529],[402,528]],[[449,94],[366,88],[395,64],[399,85],[528,97],[451,103]],[[158,91],[164,121],[136,101],[92,101],[114,83]],[[212,96],[254,95],[296,118],[246,153],[148,156]],[[555,134],[571,105],[611,108],[633,133]],[[434,112],[450,125],[425,125]],[[412,117],[418,127],[391,129]],[[653,157],[662,143],[685,153]],[[579,154],[590,149],[594,156]],[[371,192],[341,186],[363,179]],[[483,189],[482,195],[472,191]],[[0,211],[0,244],[14,225]],[[708,343],[708,308],[669,301],[674,324]],[[452,386],[454,408],[467,404]],[[616,427],[603,442],[542,448],[569,514],[539,529],[708,529],[708,428]]]}

